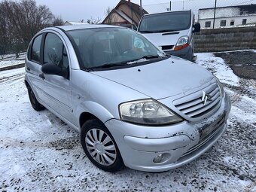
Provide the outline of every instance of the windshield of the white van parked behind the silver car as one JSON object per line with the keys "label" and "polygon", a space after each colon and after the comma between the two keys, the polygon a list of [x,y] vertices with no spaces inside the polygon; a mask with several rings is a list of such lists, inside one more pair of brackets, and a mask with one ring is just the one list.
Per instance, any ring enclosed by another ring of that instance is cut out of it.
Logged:
{"label": "windshield of the white van parked behind the silver car", "polygon": [[145,15],[139,25],[139,32],[172,32],[189,29],[190,11],[166,12]]}

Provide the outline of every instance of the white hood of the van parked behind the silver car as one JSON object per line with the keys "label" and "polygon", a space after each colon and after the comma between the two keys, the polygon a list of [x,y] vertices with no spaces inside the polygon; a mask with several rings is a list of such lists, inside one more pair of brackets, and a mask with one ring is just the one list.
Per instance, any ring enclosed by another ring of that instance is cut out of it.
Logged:
{"label": "white hood of the van parked behind the silver car", "polygon": [[160,32],[160,33],[142,33],[146,38],[157,46],[175,45],[178,38],[187,35],[189,29],[177,32]]}

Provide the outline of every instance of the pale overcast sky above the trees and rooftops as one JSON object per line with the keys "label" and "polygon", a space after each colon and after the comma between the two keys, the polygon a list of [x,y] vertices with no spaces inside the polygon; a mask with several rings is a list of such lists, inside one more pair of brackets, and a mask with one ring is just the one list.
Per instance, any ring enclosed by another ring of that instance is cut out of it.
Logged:
{"label": "pale overcast sky above the trees and rooftops", "polygon": [[[218,6],[256,4],[256,0],[217,0]],[[2,0],[0,0],[2,2]],[[98,18],[104,20],[105,10],[114,8],[119,0],[36,0],[37,5],[47,5],[50,11],[56,16],[62,17],[66,21],[80,21]],[[131,0],[139,5],[139,0]],[[183,3],[184,2],[184,3]],[[158,5],[156,5],[158,4]],[[197,14],[198,8],[214,7],[215,0],[172,0],[172,9],[187,9]],[[169,7],[169,0],[142,0],[142,7],[149,13],[166,11]]]}

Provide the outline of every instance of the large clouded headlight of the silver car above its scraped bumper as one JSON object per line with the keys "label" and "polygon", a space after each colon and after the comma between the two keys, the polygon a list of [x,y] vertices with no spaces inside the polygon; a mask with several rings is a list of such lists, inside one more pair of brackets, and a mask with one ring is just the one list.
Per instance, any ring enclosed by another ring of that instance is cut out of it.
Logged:
{"label": "large clouded headlight of the silver car above its scraped bumper", "polygon": [[132,123],[159,125],[183,120],[177,114],[152,99],[122,103],[119,106],[119,111],[122,120]]}

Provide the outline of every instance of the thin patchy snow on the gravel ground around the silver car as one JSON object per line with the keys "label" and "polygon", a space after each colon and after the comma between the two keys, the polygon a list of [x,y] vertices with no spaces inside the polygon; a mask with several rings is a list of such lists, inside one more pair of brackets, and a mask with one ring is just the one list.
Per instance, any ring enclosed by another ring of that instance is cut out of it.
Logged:
{"label": "thin patchy snow on the gravel ground around the silver car", "polygon": [[[198,53],[197,63],[239,87],[220,58]],[[0,72],[2,191],[256,191],[255,89],[242,96],[225,87],[233,101],[227,132],[197,160],[169,172],[109,173],[90,163],[71,127],[50,111],[32,109],[23,75],[24,68]]]}

